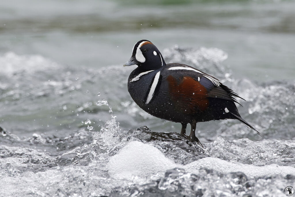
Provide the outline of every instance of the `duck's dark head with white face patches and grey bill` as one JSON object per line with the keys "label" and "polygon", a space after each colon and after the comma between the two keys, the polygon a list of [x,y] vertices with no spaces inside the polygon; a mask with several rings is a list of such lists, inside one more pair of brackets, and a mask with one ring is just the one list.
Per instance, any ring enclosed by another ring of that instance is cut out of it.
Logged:
{"label": "duck's dark head with white face patches and grey bill", "polygon": [[137,65],[142,70],[156,70],[166,63],[158,48],[148,40],[138,41],[132,50],[131,58],[123,66]]}

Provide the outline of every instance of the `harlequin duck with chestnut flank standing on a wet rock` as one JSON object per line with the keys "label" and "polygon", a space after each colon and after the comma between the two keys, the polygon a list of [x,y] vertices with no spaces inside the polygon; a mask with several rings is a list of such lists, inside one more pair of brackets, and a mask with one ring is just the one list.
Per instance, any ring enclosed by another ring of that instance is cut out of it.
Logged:
{"label": "harlequin duck with chestnut flank standing on a wet rock", "polygon": [[195,136],[196,123],[211,120],[243,120],[237,110],[235,92],[214,76],[185,64],[166,64],[158,48],[148,40],[138,41],[131,58],[123,66],[137,65],[128,78],[128,92],[140,108],[168,121],[181,123],[181,134],[191,124],[190,139]]}

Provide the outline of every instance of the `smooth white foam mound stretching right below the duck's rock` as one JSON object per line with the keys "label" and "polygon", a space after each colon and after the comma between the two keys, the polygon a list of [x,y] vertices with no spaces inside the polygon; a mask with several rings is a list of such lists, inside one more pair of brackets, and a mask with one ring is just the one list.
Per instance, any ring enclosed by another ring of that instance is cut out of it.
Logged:
{"label": "smooth white foam mound stretching right below the duck's rock", "polygon": [[131,141],[120,152],[109,159],[109,174],[117,178],[130,179],[134,176],[149,177],[157,172],[163,172],[175,167],[184,168],[187,172],[199,174],[199,169],[207,168],[227,174],[243,172],[248,178],[268,175],[295,175],[295,168],[278,166],[276,164],[255,166],[232,163],[214,157],[206,157],[187,165],[178,165],[166,158],[162,152],[150,144]]}

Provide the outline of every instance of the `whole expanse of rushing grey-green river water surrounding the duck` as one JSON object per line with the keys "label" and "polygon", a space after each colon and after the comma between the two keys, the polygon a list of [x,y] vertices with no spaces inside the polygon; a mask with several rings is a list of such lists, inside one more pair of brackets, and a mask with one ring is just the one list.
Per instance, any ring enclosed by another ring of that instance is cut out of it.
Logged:
{"label": "whole expanse of rushing grey-green river water surrounding the duck", "polygon": [[[295,187],[294,3],[167,2],[0,3],[0,196]],[[198,123],[203,149],[141,110],[127,91],[135,67],[122,66],[140,39],[245,98],[240,114],[263,137],[235,120]]]}

